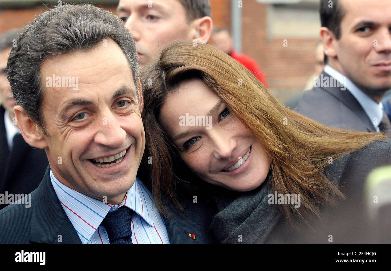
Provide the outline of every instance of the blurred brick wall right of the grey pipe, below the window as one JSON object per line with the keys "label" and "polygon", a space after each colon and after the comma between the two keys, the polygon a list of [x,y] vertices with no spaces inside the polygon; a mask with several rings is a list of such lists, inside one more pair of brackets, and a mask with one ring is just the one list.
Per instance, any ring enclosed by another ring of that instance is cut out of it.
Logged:
{"label": "blurred brick wall right of the grey pipe, below the window", "polygon": [[281,100],[299,93],[314,72],[318,39],[267,38],[267,5],[243,1],[242,51],[265,71],[271,91]]}

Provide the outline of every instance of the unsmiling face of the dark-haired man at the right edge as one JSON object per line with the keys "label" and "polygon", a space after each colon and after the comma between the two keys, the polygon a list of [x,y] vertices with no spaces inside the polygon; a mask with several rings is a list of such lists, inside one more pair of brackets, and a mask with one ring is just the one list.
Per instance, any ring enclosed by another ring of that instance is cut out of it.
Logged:
{"label": "unsmiling face of the dark-haired man at the right edge", "polygon": [[336,53],[344,75],[372,94],[391,88],[391,1],[344,0]]}

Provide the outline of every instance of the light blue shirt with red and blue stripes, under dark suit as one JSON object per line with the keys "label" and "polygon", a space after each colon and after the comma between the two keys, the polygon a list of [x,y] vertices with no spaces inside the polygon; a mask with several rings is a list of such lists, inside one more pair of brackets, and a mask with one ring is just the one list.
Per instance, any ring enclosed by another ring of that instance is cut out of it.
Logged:
{"label": "light blue shirt with red and blue stripes, under dark suit", "polygon": [[121,204],[111,205],[81,194],[54,177],[50,179],[57,198],[83,244],[109,244],[109,237],[100,225],[108,212],[126,206],[134,211],[131,219],[133,244],[169,244],[164,221],[156,208],[151,193],[136,178]]}

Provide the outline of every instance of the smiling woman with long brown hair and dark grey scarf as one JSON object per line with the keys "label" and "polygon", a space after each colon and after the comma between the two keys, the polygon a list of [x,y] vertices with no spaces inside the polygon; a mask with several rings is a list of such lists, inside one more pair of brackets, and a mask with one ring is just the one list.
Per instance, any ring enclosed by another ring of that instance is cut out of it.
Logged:
{"label": "smiling woman with long brown hair and dark grey scarf", "polygon": [[[162,198],[179,205],[179,184],[192,176],[220,187],[209,190],[219,243],[285,242],[287,228],[344,199],[341,182],[391,160],[384,135],[329,128],[287,109],[210,45],[170,44],[143,70],[142,90],[156,205],[163,214]],[[345,174],[348,163],[361,171]]]}

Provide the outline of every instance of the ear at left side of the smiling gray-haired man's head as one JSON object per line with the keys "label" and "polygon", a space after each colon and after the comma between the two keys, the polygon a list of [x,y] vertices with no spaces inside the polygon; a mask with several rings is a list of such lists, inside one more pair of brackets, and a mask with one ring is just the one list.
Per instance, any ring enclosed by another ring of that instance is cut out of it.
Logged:
{"label": "ear at left side of the smiling gray-haired man's head", "polygon": [[43,134],[38,124],[30,119],[30,117],[24,111],[23,107],[16,105],[14,107],[14,112],[16,123],[27,144],[39,149],[46,148],[48,144],[45,135]]}

